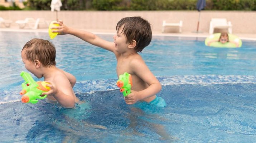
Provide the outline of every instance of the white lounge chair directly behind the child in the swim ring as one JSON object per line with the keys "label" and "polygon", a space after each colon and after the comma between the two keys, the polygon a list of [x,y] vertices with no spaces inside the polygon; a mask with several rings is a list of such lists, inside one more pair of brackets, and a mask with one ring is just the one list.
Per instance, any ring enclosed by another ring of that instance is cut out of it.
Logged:
{"label": "white lounge chair directly behind the child in the swim ring", "polygon": [[232,24],[225,18],[212,18],[210,22],[209,34],[213,34],[215,28],[228,29],[228,33],[232,34]]}

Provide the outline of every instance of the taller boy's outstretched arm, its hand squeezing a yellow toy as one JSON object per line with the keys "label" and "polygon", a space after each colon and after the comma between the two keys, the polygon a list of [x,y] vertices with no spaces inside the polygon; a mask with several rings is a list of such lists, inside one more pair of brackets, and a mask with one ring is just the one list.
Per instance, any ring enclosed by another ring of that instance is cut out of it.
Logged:
{"label": "taller boy's outstretched arm, its hand squeezing a yellow toy", "polygon": [[54,24],[59,24],[59,26],[57,26],[57,27],[52,27],[52,29],[57,29],[57,30],[52,30],[52,32],[58,32],[59,33],[58,35],[71,34],[71,35],[74,35],[92,45],[101,47],[108,51],[114,52],[114,50],[115,50],[114,42],[110,42],[110,41],[101,39],[100,37],[98,37],[97,35],[95,35],[91,32],[68,27],[68,26],[64,25],[62,21],[54,22]]}

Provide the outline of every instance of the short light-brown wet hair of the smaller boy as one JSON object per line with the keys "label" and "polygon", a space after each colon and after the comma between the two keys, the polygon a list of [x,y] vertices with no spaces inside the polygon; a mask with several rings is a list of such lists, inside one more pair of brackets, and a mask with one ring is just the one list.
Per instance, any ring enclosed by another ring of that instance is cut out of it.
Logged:
{"label": "short light-brown wet hair of the smaller boy", "polygon": [[45,67],[56,65],[55,46],[50,41],[34,38],[28,41],[21,51],[24,49],[29,61],[39,60]]}

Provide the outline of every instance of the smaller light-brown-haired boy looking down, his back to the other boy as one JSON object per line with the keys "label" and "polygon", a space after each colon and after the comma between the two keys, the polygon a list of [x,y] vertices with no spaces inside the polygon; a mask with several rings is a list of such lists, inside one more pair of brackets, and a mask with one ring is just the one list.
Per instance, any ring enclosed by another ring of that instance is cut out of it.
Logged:
{"label": "smaller light-brown-haired boy looking down, his back to the other boy", "polygon": [[43,95],[48,95],[50,101],[57,101],[63,107],[72,108],[79,99],[73,91],[76,78],[66,71],[58,69],[55,65],[55,46],[48,40],[32,39],[21,50],[21,58],[25,68],[37,78],[44,77],[50,90]]}

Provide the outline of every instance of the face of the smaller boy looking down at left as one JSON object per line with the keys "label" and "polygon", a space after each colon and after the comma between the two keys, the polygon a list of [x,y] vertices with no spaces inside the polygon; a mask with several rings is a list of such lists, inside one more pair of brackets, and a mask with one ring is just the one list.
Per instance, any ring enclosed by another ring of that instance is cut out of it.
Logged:
{"label": "face of the smaller boy looking down at left", "polygon": [[35,63],[29,61],[27,58],[26,58],[26,55],[25,55],[25,51],[26,50],[22,50],[21,51],[21,59],[25,65],[25,68],[32,74],[34,74],[37,78],[42,78],[42,76],[39,76],[37,75],[37,68],[35,66]]}

